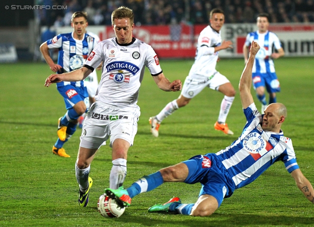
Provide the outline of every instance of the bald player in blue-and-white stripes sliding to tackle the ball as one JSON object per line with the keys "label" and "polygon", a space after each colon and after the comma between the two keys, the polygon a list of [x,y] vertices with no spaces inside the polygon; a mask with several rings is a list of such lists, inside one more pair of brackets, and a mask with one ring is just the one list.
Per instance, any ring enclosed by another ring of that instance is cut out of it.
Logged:
{"label": "bald player in blue-and-white stripes sliding to tackle the ball", "polygon": [[217,153],[197,155],[177,165],[143,176],[130,188],[105,189],[105,193],[122,206],[129,206],[136,195],[151,191],[164,182],[201,183],[196,203],[184,204],[178,197],[156,204],[148,212],[174,212],[191,216],[209,216],[224,198],[260,176],[277,161],[282,161],[304,196],[314,203],[314,189],[296,162],[292,142],[284,136],[281,125],[287,116],[282,103],[272,103],[261,115],[251,94],[252,67],[260,46],[252,41],[250,55],[243,70],[239,91],[247,119],[241,136]]}

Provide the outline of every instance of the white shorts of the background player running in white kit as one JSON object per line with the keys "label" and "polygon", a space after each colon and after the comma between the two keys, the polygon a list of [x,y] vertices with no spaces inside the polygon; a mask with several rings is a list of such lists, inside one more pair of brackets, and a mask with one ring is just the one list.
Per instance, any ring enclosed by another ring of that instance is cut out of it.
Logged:
{"label": "white shorts of the background player running in white kit", "polygon": [[220,85],[229,83],[230,81],[219,72],[215,72],[210,77],[187,76],[185,78],[181,94],[185,98],[194,98],[205,87],[213,90],[218,90]]}

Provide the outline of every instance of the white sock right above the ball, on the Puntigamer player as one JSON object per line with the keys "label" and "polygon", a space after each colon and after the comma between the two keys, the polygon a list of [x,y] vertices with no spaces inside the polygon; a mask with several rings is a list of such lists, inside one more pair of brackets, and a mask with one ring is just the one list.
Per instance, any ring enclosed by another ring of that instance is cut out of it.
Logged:
{"label": "white sock right above the ball, on the Puntigamer player", "polygon": [[120,186],[122,186],[126,175],[127,175],[127,160],[123,158],[113,160],[109,177],[110,188],[118,189]]}

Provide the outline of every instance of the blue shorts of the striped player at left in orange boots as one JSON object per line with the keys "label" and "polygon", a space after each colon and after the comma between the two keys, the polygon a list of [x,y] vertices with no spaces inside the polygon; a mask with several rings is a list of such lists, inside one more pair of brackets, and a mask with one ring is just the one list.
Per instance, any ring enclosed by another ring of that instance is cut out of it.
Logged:
{"label": "blue shorts of the striped player at left in orange boots", "polygon": [[66,86],[57,86],[59,93],[63,96],[65,107],[67,110],[73,108],[75,104],[79,101],[84,101],[86,108],[89,108],[89,98],[87,93],[87,88],[83,87],[76,87],[73,85],[66,85]]}

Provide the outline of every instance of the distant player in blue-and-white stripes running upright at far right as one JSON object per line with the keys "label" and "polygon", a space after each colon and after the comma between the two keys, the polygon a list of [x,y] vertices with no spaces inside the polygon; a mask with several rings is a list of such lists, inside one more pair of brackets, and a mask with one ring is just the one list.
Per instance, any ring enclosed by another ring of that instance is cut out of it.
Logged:
{"label": "distant player in blue-and-white stripes running upright at far right", "polygon": [[[280,83],[278,81],[273,59],[283,57],[285,55],[281,42],[274,32],[268,30],[269,16],[267,13],[261,13],[257,17],[258,30],[250,32],[246,36],[243,45],[243,56],[246,63],[249,54],[249,46],[254,40],[259,43],[261,50],[257,54],[253,65],[253,87],[256,90],[256,95],[262,103],[262,113],[267,107],[265,87],[269,93],[269,103],[276,103],[276,92],[280,91]],[[273,48],[278,53],[273,53]]]}

